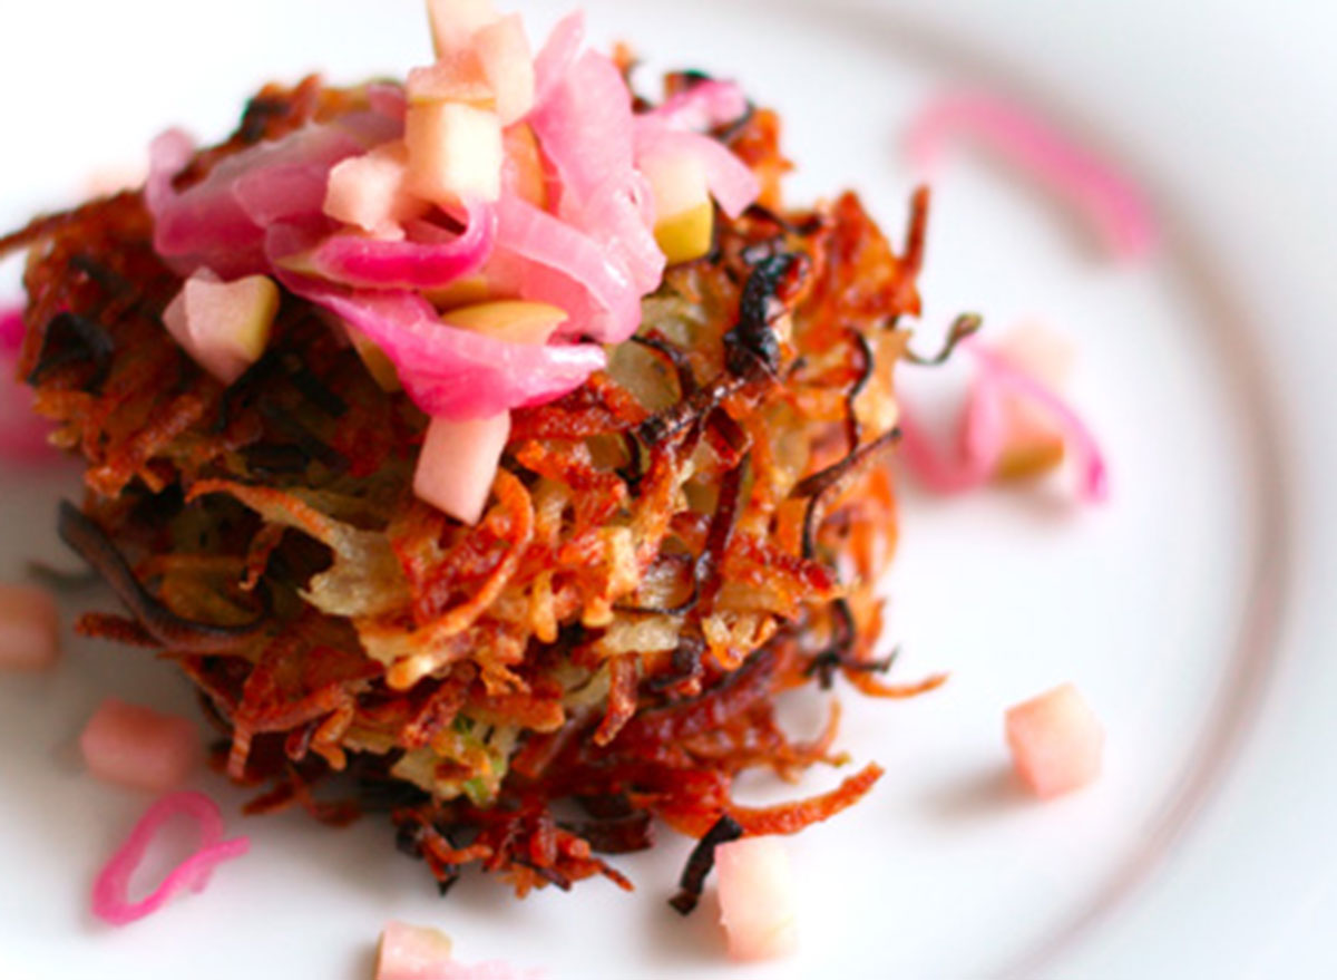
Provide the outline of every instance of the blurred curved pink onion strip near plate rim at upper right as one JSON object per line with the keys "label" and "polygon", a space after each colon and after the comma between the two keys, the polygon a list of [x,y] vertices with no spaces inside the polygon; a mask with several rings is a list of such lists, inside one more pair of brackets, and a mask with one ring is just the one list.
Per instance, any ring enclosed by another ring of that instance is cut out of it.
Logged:
{"label": "blurred curved pink onion strip near plate rim at upper right", "polygon": [[1140,258],[1155,244],[1155,220],[1136,185],[1032,112],[991,95],[943,96],[915,119],[905,146],[912,163],[931,171],[959,137],[1051,185],[1091,217],[1116,258]]}

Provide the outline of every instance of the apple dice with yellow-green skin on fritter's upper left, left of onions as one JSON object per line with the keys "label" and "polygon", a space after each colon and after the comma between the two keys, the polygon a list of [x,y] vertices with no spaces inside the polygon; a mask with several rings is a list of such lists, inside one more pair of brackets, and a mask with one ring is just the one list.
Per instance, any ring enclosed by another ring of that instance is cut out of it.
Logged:
{"label": "apple dice with yellow-green skin on fritter's upper left, left of onions", "polygon": [[195,363],[231,384],[265,353],[278,301],[267,276],[222,282],[202,269],[167,304],[163,324]]}

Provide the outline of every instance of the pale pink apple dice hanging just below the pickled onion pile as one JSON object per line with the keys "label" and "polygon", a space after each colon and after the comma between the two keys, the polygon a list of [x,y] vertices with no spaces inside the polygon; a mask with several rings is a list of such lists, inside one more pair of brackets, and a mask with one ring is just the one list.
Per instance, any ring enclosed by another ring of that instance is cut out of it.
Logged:
{"label": "pale pink apple dice hanging just below the pickled onion pile", "polygon": [[465,422],[432,419],[413,474],[413,493],[463,523],[477,523],[509,435],[509,412]]}

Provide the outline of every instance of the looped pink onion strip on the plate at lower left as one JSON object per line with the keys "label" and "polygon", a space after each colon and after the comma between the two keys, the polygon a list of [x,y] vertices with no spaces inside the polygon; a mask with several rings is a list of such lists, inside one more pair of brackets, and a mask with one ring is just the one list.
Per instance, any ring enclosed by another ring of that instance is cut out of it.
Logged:
{"label": "looped pink onion strip on the plate at lower left", "polygon": [[[143,862],[162,826],[178,814],[199,823],[199,849],[176,865],[146,898],[130,901],[131,876]],[[94,914],[111,925],[127,925],[156,912],[182,889],[202,892],[219,864],[250,850],[247,837],[230,841],[223,841],[222,837],[223,818],[218,805],[209,797],[202,793],[172,793],[163,797],[148,807],[126,842],[98,874],[92,886]]]}

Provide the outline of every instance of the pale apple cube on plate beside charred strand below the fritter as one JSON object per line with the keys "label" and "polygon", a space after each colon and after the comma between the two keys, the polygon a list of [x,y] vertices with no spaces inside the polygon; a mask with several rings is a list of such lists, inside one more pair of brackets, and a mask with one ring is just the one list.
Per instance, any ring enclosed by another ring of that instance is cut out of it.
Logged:
{"label": "pale apple cube on plate beside charred strand below the fritter", "polygon": [[779,837],[743,837],[715,847],[719,921],[729,955],[741,961],[773,960],[798,945],[797,889]]}

